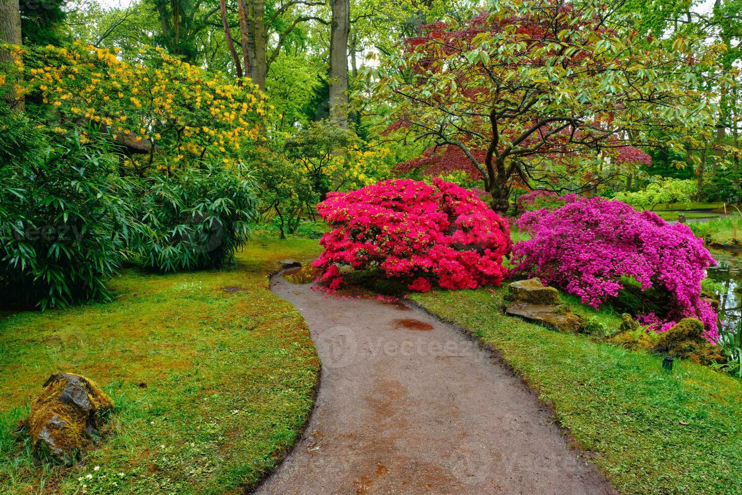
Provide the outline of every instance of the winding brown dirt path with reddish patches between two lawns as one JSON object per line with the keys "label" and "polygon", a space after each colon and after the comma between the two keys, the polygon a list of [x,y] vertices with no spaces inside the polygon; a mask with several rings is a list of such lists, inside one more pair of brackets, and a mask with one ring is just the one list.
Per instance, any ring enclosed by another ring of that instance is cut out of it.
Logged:
{"label": "winding brown dirt path with reddish patches between two lawns", "polygon": [[281,277],[322,375],[303,438],[257,494],[612,494],[519,378],[416,307]]}

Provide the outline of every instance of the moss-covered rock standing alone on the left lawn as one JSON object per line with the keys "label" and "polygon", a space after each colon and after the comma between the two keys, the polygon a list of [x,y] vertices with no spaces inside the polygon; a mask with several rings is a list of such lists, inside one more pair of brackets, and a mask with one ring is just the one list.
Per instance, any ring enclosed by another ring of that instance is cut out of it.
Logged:
{"label": "moss-covered rock standing alone on the left lawn", "polygon": [[112,401],[92,380],[54,373],[33,402],[28,428],[34,453],[72,465],[99,438],[102,413]]}

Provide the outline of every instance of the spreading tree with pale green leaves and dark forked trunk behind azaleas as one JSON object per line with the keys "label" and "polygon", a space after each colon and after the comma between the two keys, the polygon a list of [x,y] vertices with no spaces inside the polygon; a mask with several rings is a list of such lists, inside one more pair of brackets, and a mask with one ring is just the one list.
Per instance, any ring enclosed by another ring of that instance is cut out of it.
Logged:
{"label": "spreading tree with pale green leaves and dark forked trunk behind azaleas", "polygon": [[390,131],[430,143],[408,166],[465,157],[502,211],[513,180],[590,182],[646,160],[635,146],[657,136],[680,150],[712,131],[700,74],[718,47],[640,42],[620,20],[600,3],[498,2],[464,23],[424,26],[367,70],[372,95],[390,105]]}

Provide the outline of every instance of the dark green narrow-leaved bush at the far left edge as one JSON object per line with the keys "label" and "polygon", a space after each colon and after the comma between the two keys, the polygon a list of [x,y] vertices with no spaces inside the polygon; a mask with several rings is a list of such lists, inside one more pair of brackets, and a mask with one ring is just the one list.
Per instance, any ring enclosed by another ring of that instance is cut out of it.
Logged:
{"label": "dark green narrow-leaved bush at the far left edge", "polygon": [[24,117],[0,119],[0,300],[110,300],[128,232],[115,158],[76,133],[49,144]]}

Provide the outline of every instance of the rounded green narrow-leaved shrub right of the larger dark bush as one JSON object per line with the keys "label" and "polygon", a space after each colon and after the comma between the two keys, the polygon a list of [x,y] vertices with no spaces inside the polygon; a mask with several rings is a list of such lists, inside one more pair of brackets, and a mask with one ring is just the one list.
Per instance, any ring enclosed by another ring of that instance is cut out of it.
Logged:
{"label": "rounded green narrow-leaved shrub right of the larger dark bush", "polygon": [[234,263],[257,219],[255,181],[243,165],[204,164],[145,179],[131,246],[142,266],[160,272]]}

